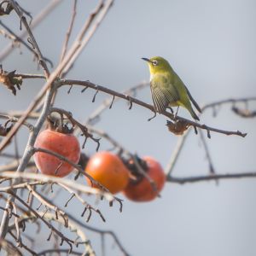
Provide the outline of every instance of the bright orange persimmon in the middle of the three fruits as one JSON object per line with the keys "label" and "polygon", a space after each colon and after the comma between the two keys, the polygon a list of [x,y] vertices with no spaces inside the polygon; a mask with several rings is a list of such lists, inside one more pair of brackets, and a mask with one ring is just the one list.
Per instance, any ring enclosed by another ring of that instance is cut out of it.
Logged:
{"label": "bright orange persimmon in the middle of the three fruits", "polygon": [[[129,181],[129,171],[122,160],[116,154],[107,151],[92,155],[85,167],[85,172],[101,183],[112,194],[125,189]],[[90,182],[88,177],[86,179],[88,184],[97,188],[95,184]]]}

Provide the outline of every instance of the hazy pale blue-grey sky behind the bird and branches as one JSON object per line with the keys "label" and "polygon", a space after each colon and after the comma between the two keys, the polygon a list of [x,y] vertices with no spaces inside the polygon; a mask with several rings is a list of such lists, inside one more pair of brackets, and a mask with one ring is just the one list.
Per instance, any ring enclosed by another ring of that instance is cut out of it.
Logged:
{"label": "hazy pale blue-grey sky behind the bird and branches", "polygon": [[[35,17],[49,1],[18,1]],[[73,35],[79,32],[96,1],[79,1]],[[73,1],[63,1],[35,30],[43,54],[59,61],[61,45]],[[13,12],[1,18],[19,32],[19,20]],[[256,3],[253,0],[172,0],[172,1],[115,1],[90,44],[84,49],[67,78],[89,79],[91,82],[123,91],[142,80],[149,79],[148,67],[141,57],[164,56],[187,84],[200,105],[230,97],[256,96]],[[0,49],[8,44],[1,36]],[[37,71],[32,55],[21,47],[3,61],[5,70],[19,73]],[[43,81],[24,81],[22,90],[13,96],[0,86],[0,111],[26,109]],[[67,95],[62,88],[55,106],[65,108],[79,120],[84,120],[106,97],[95,91],[80,93],[80,88]],[[137,98],[151,103],[149,88]],[[240,105],[244,107],[243,104]],[[249,104],[255,109],[256,104]],[[113,109],[102,115],[96,125],[114,136],[125,148],[137,154],[151,155],[166,166],[177,137],[166,129],[166,118],[152,116],[147,109],[134,105],[131,110],[124,101],[113,104]],[[189,117],[184,111],[180,115]],[[248,132],[246,138],[226,137],[212,133],[207,143],[216,172],[256,171],[255,119],[241,119],[230,111],[230,105],[219,109],[213,118],[208,110],[201,123],[220,129]],[[20,150],[25,146],[26,130],[18,138]],[[95,143],[89,142],[84,152],[93,154]],[[101,149],[109,144],[102,140]],[[9,148],[9,151],[11,148]],[[3,160],[2,160],[3,161]],[[208,164],[199,136],[191,133],[174,174],[180,177],[205,175]],[[131,255],[255,255],[256,237],[256,180],[241,179],[177,185],[166,183],[162,197],[150,203],[124,202],[124,212],[100,203],[107,223],[96,215],[90,224],[111,229],[119,236]],[[67,195],[63,195],[66,200]],[[119,195],[123,197],[122,195]],[[63,204],[61,205],[63,206]],[[76,207],[76,208],[74,208]],[[76,209],[76,211],[74,211]],[[73,203],[69,211],[74,216],[82,212]],[[99,238],[92,244],[99,252]],[[120,255],[107,240],[108,255]]]}

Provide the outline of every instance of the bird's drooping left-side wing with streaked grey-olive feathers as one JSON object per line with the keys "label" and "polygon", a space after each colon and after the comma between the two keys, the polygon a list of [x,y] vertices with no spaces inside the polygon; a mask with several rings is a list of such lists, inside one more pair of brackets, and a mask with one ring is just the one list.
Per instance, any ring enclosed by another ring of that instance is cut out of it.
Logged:
{"label": "bird's drooping left-side wing with streaked grey-olive feathers", "polygon": [[165,76],[156,75],[150,81],[154,110],[163,113],[168,105],[179,100],[177,89]]}

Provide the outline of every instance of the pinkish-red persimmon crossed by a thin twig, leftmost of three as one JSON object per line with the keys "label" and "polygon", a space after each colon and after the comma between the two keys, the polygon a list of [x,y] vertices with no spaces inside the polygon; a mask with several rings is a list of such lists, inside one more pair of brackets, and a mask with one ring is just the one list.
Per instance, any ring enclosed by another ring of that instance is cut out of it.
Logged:
{"label": "pinkish-red persimmon crossed by a thin twig, leftmost of three", "polygon": [[[72,133],[66,134],[51,129],[41,131],[36,139],[35,148],[44,148],[61,154],[75,164],[79,162],[79,141]],[[47,175],[64,177],[73,171],[73,166],[52,154],[37,152],[33,158],[38,170]]]}

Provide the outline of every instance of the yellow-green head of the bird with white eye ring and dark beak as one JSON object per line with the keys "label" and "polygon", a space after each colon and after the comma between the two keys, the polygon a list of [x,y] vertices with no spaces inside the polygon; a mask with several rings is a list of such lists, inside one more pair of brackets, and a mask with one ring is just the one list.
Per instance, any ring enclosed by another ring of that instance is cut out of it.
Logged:
{"label": "yellow-green head of the bird with white eye ring and dark beak", "polygon": [[142,58],[143,61],[148,62],[148,67],[150,74],[156,74],[156,73],[165,73],[170,72],[172,70],[172,67],[170,66],[169,62],[166,61],[162,57],[152,57],[150,59],[148,58]]}

